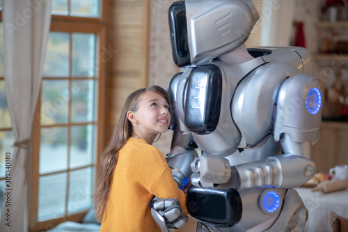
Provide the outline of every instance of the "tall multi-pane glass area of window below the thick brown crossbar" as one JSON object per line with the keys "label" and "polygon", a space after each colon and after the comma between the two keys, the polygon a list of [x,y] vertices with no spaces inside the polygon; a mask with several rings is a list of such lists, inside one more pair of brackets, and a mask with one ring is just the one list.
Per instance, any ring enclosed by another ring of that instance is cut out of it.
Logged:
{"label": "tall multi-pane glass area of window below the thick brown crossbar", "polygon": [[38,109],[40,152],[35,159],[38,221],[92,206],[98,119],[96,45],[94,33],[49,34]]}

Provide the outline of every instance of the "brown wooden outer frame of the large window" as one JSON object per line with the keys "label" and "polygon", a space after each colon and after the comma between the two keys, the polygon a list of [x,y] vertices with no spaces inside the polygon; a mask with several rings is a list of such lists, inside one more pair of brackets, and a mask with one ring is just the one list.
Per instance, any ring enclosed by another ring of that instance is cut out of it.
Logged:
{"label": "brown wooden outer frame of the large window", "polygon": [[[96,77],[97,80],[97,119],[92,125],[97,126],[96,130],[96,148],[95,148],[95,173],[99,167],[99,157],[104,149],[105,134],[105,106],[106,106],[106,73],[107,62],[103,62],[103,55],[107,51],[107,6],[109,0],[100,0],[100,17],[74,17],[65,15],[52,15],[50,32],[65,33],[95,33],[97,35],[96,49]],[[106,54],[107,55],[107,54]],[[52,79],[52,78],[47,78]],[[80,79],[80,78],[77,78]],[[71,98],[71,96],[70,96]],[[41,92],[35,109],[33,119],[32,144],[31,144],[31,161],[30,161],[30,183],[29,183],[29,231],[44,231],[50,229],[57,224],[66,221],[81,222],[88,210],[64,215],[54,219],[38,221],[38,203],[39,203],[39,162],[40,162],[40,108],[41,108]],[[69,125],[70,126],[70,125]],[[45,127],[45,126],[44,126]],[[74,169],[72,169],[74,170]],[[68,171],[70,169],[68,168]],[[68,197],[68,196],[67,196]]]}

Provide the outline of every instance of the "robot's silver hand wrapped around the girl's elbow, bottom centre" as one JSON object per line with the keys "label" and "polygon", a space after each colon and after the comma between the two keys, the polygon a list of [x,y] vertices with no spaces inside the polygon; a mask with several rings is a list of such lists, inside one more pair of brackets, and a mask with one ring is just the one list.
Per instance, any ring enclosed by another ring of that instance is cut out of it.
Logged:
{"label": "robot's silver hand wrapped around the girl's elbow, bottom centre", "polygon": [[170,232],[169,229],[179,229],[189,217],[182,215],[182,208],[177,199],[159,199],[155,196],[150,202],[151,215],[159,229],[164,232]]}

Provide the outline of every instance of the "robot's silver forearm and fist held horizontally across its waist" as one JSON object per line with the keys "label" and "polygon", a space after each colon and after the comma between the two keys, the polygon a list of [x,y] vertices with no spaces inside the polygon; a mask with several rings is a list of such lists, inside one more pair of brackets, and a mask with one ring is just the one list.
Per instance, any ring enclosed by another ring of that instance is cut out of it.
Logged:
{"label": "robot's silver forearm and fist held horizontally across its waist", "polygon": [[[299,155],[276,155],[265,161],[226,165],[228,161],[215,155],[203,155],[203,162],[191,164],[191,182],[198,187],[216,189],[251,188],[276,186],[278,188],[298,187],[315,174],[315,164]],[[209,161],[209,162],[208,162]]]}

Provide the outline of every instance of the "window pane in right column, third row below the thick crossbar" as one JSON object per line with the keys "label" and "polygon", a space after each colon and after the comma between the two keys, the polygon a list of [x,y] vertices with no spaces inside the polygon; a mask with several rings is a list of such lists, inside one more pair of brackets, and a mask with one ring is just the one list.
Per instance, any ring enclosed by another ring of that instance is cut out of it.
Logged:
{"label": "window pane in right column, third row below the thick crossbar", "polygon": [[71,127],[70,169],[93,163],[94,125],[79,125]]}

